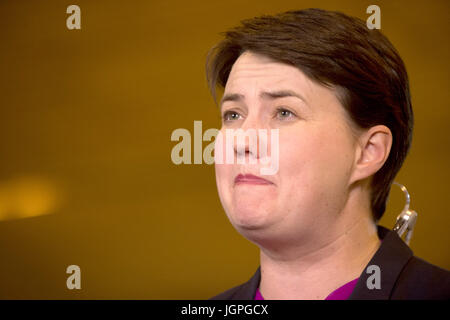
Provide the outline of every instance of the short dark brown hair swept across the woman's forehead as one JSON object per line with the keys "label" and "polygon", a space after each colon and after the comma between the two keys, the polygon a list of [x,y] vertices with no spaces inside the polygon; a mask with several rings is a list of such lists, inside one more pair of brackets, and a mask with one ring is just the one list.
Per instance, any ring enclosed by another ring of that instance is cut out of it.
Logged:
{"label": "short dark brown hair swept across the woman's forehead", "polygon": [[223,35],[208,53],[206,76],[216,100],[231,68],[244,51],[293,65],[310,79],[335,88],[357,127],[382,124],[392,132],[392,147],[372,177],[375,221],[386,210],[392,182],[412,140],[413,111],[405,65],[389,40],[358,18],[321,9],[287,11],[247,19]]}

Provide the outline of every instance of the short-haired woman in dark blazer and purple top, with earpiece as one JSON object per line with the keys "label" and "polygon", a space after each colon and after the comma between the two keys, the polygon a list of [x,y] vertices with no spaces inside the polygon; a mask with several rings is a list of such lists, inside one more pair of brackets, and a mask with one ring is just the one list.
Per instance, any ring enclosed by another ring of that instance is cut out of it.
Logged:
{"label": "short-haired woman in dark blazer and purple top, with earpiece", "polygon": [[223,136],[276,131],[268,155],[279,161],[262,175],[270,161],[247,139],[232,152],[248,161],[216,163],[221,203],[260,248],[260,267],[213,299],[450,298],[448,271],[377,226],[413,128],[406,69],[387,38],[338,12],[262,16],[225,34],[207,77],[214,99],[225,89]]}

